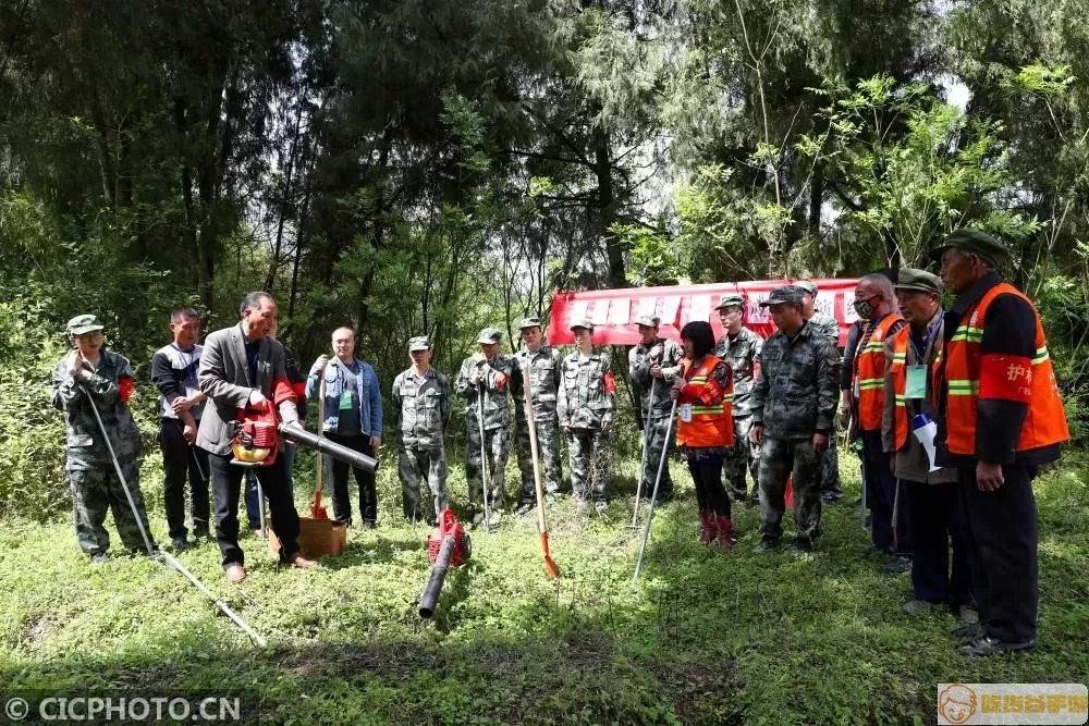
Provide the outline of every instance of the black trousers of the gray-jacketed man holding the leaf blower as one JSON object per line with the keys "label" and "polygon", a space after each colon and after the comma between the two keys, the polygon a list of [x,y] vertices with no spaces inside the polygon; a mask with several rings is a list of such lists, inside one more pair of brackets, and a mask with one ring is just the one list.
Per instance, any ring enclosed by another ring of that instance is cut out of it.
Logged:
{"label": "black trousers of the gray-jacketed man holding the leaf blower", "polygon": [[[245,553],[238,546],[238,493],[246,467],[231,464],[231,458],[230,454],[208,454],[211,488],[216,493],[216,540],[224,568],[245,564]],[[280,562],[286,563],[298,552],[298,513],[291,497],[283,457],[277,456],[271,466],[254,467],[254,471],[269,501],[272,531],[280,540]]]}

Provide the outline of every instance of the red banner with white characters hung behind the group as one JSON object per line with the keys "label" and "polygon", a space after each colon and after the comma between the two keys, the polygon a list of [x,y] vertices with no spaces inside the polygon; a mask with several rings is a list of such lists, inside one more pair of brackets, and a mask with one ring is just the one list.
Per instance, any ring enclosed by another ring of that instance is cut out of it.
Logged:
{"label": "red banner with white characters hung behind the group", "polygon": [[[549,345],[571,345],[573,320],[586,318],[594,323],[594,343],[597,345],[635,345],[639,331],[635,320],[645,315],[661,319],[659,334],[681,340],[681,329],[693,320],[706,320],[714,329],[718,340],[722,324],[715,306],[723,295],[741,295],[745,299],[745,325],[762,337],[775,331],[768,308],[760,303],[771,291],[790,284],[786,280],[757,280],[752,282],[717,282],[709,285],[674,285],[671,287],[626,287],[623,290],[589,290],[578,293],[560,292],[552,298],[549,320]],[[857,280],[813,280],[817,287],[817,309],[840,322],[840,345],[846,342],[847,331],[857,319],[852,305],[855,300]]]}

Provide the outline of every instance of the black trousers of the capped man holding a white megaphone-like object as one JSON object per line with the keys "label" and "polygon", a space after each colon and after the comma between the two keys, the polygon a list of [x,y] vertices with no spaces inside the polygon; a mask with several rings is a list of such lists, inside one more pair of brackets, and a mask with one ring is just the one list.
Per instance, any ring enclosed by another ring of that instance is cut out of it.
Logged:
{"label": "black trousers of the capped man holding a white megaphone-like object", "polygon": [[[911,585],[917,600],[947,603],[956,611],[972,605],[968,542],[960,527],[956,482],[927,484],[904,481],[911,520]],[[903,502],[902,502],[903,504]],[[953,568],[950,570],[950,545]]]}

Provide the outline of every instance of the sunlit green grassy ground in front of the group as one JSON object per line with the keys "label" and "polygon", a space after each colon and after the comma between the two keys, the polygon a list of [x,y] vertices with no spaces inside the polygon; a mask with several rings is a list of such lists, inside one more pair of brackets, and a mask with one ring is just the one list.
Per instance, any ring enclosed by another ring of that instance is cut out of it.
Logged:
{"label": "sunlit green grassy ground in front of the group", "polygon": [[[857,469],[844,457],[848,499]],[[1040,649],[989,661],[956,654],[952,616],[901,615],[907,576],[859,556],[867,534],[845,504],[825,508],[811,556],[752,555],[758,516],[747,507],[735,512],[741,545],[709,552],[681,475],[634,589],[633,465],[620,467],[605,518],[587,520],[570,502],[549,513],[559,583],[544,574],[534,519],[511,518],[491,537],[474,533],[470,564],[420,622],[427,530],[395,521],[393,473],[380,479],[381,527],[353,531],[319,571],[280,568],[249,536],[241,586],[223,580],[215,544],[180,555],[268,650],[173,570],[127,556],[93,567],[68,522],[4,522],[0,682],[238,689],[259,696],[266,723],[884,724],[933,723],[939,682],[1089,677],[1089,492],[1074,458],[1037,484]],[[167,541],[158,481],[145,477],[145,491]]]}

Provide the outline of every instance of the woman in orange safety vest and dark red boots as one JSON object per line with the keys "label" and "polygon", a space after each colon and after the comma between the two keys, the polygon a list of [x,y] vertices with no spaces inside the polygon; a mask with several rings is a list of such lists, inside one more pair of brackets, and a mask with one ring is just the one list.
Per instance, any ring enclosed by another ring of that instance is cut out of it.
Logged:
{"label": "woman in orange safety vest and dark red boots", "polygon": [[677,444],[696,484],[702,526],[700,541],[729,550],[734,543],[730,497],[722,485],[722,463],[734,443],[731,407],[734,395],[730,365],[714,356],[710,323],[694,320],[681,329],[684,374],[670,391],[677,402]]}

